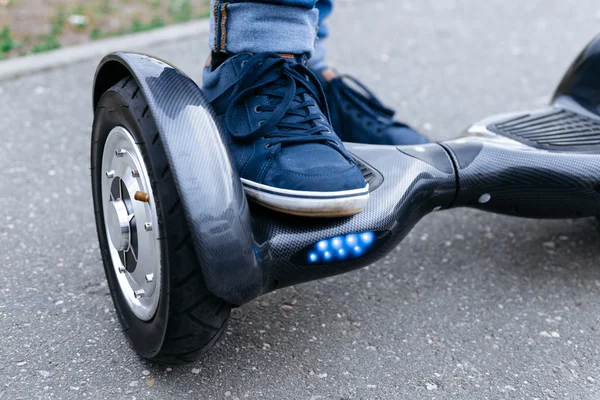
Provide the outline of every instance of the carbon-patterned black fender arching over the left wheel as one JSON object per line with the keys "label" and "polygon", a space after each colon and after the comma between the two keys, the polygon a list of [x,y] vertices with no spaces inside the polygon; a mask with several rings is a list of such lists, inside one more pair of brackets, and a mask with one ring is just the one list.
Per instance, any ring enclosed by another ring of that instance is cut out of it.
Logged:
{"label": "carbon-patterned black fender arching over the left wheel", "polygon": [[174,66],[136,53],[100,62],[93,104],[126,76],[139,84],[158,127],[208,290],[233,305],[263,292],[263,266],[248,202],[227,140],[196,83]]}

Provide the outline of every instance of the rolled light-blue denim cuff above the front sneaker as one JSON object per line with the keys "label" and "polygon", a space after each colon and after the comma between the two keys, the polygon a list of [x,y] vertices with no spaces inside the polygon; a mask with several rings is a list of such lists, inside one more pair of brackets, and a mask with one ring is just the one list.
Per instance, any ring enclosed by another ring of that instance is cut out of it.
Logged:
{"label": "rolled light-blue denim cuff above the front sneaker", "polygon": [[212,6],[209,46],[213,51],[312,56],[317,37],[317,9],[220,0],[212,0]]}

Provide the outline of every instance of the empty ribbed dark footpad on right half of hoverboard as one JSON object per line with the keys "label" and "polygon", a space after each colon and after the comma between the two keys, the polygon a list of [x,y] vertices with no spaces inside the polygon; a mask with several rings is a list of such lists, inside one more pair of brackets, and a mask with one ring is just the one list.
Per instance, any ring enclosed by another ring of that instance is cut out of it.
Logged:
{"label": "empty ribbed dark footpad on right half of hoverboard", "polygon": [[488,129],[539,149],[600,153],[600,119],[563,108],[512,116],[488,125]]}

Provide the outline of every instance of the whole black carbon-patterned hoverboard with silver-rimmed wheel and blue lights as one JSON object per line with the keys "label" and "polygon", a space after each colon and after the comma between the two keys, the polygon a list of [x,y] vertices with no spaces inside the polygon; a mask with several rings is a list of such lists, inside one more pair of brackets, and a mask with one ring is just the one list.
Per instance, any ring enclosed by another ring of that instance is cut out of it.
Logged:
{"label": "whole black carbon-patterned hoverboard with silver-rimmed wheel and blue lights", "polygon": [[232,307],[374,263],[432,211],[600,215],[600,36],[542,110],[488,118],[419,146],[347,143],[370,187],[358,215],[293,217],[248,203],[198,86],[147,55],[105,57],[91,170],[117,315],[148,359],[198,359]]}

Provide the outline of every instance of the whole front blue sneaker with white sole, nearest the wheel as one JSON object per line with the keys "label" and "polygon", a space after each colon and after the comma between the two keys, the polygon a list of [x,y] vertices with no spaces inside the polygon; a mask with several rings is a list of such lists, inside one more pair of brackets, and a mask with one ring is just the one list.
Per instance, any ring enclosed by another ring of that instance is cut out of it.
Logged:
{"label": "whole front blue sneaker with white sole, nearest the wheel", "polygon": [[301,216],[360,213],[369,187],[303,61],[275,53],[231,56],[205,68],[203,91],[229,134],[251,200]]}

